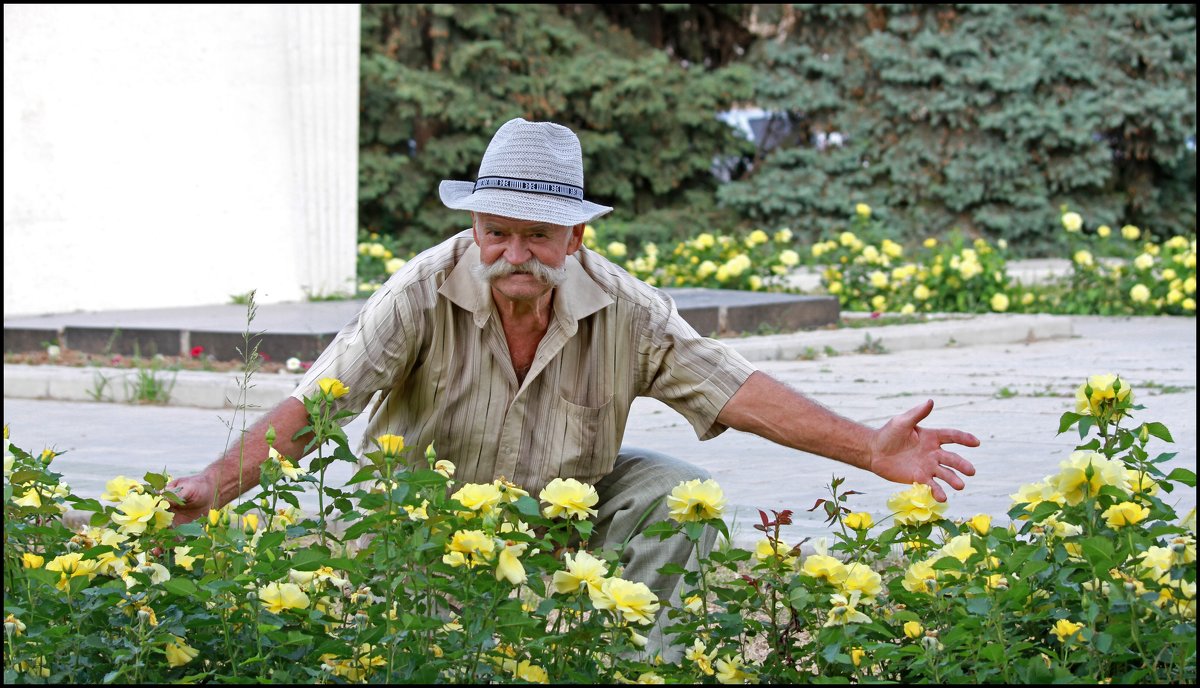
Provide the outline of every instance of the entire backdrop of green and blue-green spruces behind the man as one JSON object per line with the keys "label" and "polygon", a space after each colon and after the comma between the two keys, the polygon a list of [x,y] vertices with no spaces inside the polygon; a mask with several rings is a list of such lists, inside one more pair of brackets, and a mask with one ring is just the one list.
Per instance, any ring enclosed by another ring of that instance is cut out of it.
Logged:
{"label": "entire backdrop of green and blue-green spruces behind the man", "polygon": [[[859,202],[895,240],[1026,256],[1061,252],[1062,205],[1194,233],[1195,46],[1194,5],[364,5],[360,223],[410,250],[466,227],[438,183],[523,116],[580,134],[631,249],[811,240]],[[718,119],[749,106],[757,145]]]}

